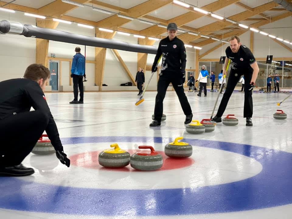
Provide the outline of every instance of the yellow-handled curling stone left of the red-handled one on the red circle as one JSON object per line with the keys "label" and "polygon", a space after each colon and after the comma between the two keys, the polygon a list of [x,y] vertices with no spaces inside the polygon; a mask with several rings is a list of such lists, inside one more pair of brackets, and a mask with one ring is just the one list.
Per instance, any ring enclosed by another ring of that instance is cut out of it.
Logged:
{"label": "yellow-handled curling stone left of the red-handled one on the red circle", "polygon": [[98,155],[100,165],[109,168],[125,167],[130,163],[130,154],[120,149],[118,144],[111,144],[111,148],[101,151]]}

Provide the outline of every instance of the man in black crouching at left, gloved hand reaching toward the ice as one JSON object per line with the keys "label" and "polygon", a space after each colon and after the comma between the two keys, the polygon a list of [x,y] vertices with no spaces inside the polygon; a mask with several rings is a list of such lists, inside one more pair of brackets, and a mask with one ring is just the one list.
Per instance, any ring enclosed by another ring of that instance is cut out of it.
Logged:
{"label": "man in black crouching at left, gloved hand reaching toward the ice", "polygon": [[[24,78],[0,82],[0,176],[28,176],[32,168],[21,164],[46,130],[61,163],[70,166],[56,123],[43,93],[50,71],[31,64]],[[33,107],[35,111],[30,111]]]}

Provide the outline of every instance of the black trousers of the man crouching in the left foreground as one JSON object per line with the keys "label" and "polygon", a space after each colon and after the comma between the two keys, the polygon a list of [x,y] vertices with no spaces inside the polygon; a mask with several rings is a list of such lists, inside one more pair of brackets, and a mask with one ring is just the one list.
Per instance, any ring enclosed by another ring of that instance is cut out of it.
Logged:
{"label": "black trousers of the man crouching in the left foreground", "polygon": [[19,165],[43,134],[49,118],[40,110],[0,120],[0,167]]}

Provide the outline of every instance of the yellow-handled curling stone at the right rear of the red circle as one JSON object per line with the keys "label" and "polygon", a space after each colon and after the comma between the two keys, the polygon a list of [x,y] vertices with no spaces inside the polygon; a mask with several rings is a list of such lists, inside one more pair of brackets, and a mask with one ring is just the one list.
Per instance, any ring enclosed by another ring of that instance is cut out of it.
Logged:
{"label": "yellow-handled curling stone at the right rear of the red circle", "polygon": [[183,137],[177,137],[174,142],[166,144],[164,147],[165,155],[178,158],[190,157],[193,154],[193,147],[186,142],[178,142],[182,139]]}

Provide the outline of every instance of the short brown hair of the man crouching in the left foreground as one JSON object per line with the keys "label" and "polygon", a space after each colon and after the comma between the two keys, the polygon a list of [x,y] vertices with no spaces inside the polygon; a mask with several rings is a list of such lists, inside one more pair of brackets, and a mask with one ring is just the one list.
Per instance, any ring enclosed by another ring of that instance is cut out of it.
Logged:
{"label": "short brown hair of the man crouching in the left foreground", "polygon": [[31,64],[26,68],[23,78],[36,82],[43,78],[43,81],[45,81],[47,78],[50,78],[50,70],[42,64]]}

